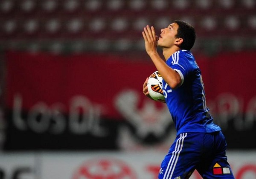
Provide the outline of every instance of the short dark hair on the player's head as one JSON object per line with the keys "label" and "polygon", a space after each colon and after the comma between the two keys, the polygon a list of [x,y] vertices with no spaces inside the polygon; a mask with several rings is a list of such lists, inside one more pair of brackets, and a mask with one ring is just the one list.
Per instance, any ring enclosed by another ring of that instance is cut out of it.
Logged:
{"label": "short dark hair on the player's head", "polygon": [[196,33],[195,29],[189,23],[186,23],[182,20],[175,20],[175,23],[178,24],[179,28],[177,29],[177,35],[175,38],[182,38],[183,42],[180,45],[180,49],[190,50],[194,46]]}

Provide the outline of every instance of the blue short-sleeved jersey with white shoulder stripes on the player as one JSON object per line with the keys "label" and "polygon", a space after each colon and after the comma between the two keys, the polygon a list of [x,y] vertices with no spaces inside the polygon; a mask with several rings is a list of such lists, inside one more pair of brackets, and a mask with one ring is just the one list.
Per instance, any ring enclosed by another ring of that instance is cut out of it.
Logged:
{"label": "blue short-sleeved jersey with white shoulder stripes on the player", "polygon": [[186,132],[212,133],[221,128],[212,122],[206,106],[201,71],[190,51],[175,52],[166,64],[179,73],[182,84],[171,89],[163,80],[163,93],[177,135]]}

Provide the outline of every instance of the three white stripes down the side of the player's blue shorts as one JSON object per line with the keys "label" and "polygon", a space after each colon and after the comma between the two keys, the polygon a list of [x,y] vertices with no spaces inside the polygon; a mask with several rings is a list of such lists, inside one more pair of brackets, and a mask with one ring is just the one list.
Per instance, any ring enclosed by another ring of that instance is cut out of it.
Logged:
{"label": "three white stripes down the side of the player's blue shorts", "polygon": [[176,141],[175,150],[172,152],[172,157],[168,163],[168,166],[164,173],[163,179],[171,179],[172,178],[172,174],[175,170],[177,161],[179,159],[180,152],[183,148],[183,141],[186,136],[187,136],[187,133],[182,133],[182,134],[180,134],[180,138]]}

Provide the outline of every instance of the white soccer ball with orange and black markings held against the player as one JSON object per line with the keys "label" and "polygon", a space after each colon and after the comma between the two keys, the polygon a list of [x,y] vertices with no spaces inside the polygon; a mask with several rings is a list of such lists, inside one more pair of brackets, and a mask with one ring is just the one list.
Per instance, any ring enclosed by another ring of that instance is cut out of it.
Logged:
{"label": "white soccer ball with orange and black markings held against the player", "polygon": [[148,78],[148,92],[152,99],[155,101],[165,101],[162,88],[163,78],[158,71],[152,73]]}

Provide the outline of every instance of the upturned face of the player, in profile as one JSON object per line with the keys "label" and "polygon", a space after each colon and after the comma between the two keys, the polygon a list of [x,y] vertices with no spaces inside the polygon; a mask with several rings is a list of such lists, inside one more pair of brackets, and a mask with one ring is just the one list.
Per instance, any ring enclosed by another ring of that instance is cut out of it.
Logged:
{"label": "upturned face of the player, in profile", "polygon": [[172,23],[165,29],[161,29],[160,37],[158,38],[157,45],[163,48],[170,48],[175,44],[175,35],[178,29],[177,23]]}

